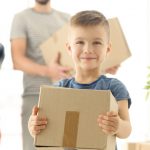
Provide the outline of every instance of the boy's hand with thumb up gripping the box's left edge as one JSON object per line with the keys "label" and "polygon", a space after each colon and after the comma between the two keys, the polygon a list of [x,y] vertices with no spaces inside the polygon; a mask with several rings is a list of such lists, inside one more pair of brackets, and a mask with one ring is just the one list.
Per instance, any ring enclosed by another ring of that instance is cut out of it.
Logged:
{"label": "boy's hand with thumb up gripping the box's left edge", "polygon": [[34,106],[32,109],[32,114],[28,121],[28,130],[32,137],[35,137],[35,135],[39,134],[42,129],[45,129],[47,124],[46,117],[38,117],[39,108],[37,106]]}

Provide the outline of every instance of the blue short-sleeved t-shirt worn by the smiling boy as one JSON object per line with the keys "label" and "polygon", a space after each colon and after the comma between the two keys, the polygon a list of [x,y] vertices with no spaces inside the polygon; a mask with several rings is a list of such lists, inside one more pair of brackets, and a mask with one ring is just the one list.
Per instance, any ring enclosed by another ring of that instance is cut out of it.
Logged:
{"label": "blue short-sleeved t-shirt worn by the smiling boy", "polygon": [[117,101],[126,99],[128,101],[128,107],[131,105],[131,98],[127,88],[116,78],[108,78],[102,75],[90,84],[80,84],[74,78],[70,78],[59,81],[56,83],[56,86],[75,89],[110,90]]}

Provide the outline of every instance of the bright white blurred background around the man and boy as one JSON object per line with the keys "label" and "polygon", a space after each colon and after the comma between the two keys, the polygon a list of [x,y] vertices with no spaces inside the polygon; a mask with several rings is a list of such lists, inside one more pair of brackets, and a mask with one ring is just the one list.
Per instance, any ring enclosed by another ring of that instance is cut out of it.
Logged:
{"label": "bright white blurred background around the man and boy", "polygon": [[[119,150],[127,142],[150,141],[150,100],[145,100],[150,66],[150,2],[149,0],[51,0],[52,7],[71,15],[86,9],[102,12],[107,18],[118,17],[132,56],[122,63],[115,77],[127,86],[133,131],[128,139],[118,141]],[[22,72],[12,68],[10,26],[14,14],[32,7],[34,0],[0,1],[0,43],[5,47],[5,59],[0,70],[1,150],[21,150],[20,108]],[[119,55],[119,54],[118,54]]]}

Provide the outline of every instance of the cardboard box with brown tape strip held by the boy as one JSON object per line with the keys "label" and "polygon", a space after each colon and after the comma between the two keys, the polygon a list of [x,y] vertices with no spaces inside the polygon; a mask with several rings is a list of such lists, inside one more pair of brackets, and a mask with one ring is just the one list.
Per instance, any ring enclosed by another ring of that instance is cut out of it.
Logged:
{"label": "cardboard box with brown tape strip held by the boy", "polygon": [[118,110],[109,90],[41,86],[39,108],[38,115],[46,115],[49,123],[36,136],[35,146],[45,147],[44,150],[50,147],[115,150],[115,136],[104,134],[97,124],[99,114]]}

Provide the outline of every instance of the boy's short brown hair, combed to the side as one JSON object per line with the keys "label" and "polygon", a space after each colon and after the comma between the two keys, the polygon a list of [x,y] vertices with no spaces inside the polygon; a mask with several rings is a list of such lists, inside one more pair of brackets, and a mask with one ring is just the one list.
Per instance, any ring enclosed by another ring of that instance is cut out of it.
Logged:
{"label": "boy's short brown hair, combed to the side", "polygon": [[96,10],[85,10],[78,12],[70,19],[70,26],[95,26],[101,25],[106,29],[108,37],[110,34],[109,23],[106,17]]}

